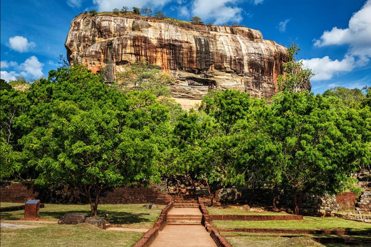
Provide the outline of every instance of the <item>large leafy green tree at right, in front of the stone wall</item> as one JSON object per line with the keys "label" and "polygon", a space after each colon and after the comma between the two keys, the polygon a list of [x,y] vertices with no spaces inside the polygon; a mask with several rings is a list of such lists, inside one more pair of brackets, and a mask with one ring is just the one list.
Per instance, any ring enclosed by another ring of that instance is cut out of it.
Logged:
{"label": "large leafy green tree at right, in front of the stone wall", "polygon": [[295,213],[306,192],[342,192],[357,164],[370,164],[370,144],[362,140],[370,136],[370,112],[362,116],[333,97],[286,91],[273,97],[272,113],[265,132],[282,146],[277,165],[293,190]]}

